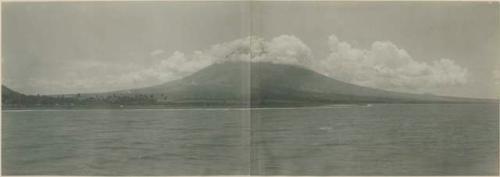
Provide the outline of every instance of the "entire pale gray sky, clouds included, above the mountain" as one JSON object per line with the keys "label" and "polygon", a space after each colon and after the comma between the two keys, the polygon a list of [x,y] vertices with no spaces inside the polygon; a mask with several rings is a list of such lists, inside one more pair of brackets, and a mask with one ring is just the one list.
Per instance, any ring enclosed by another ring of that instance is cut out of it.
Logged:
{"label": "entire pale gray sky, clouds included, above the mountain", "polygon": [[2,83],[102,92],[245,60],[385,90],[498,98],[499,33],[498,2],[8,2]]}

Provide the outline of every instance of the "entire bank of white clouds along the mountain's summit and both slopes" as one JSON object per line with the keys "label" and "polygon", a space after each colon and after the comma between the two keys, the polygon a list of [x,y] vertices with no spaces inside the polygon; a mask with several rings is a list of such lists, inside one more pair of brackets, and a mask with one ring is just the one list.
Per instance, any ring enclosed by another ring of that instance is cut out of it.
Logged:
{"label": "entire bank of white clouds along the mountain's summit and both slopes", "polygon": [[213,63],[226,61],[299,65],[345,82],[404,92],[432,92],[440,87],[467,82],[467,69],[453,60],[417,60],[390,41],[375,41],[368,49],[358,49],[331,35],[325,40],[325,45],[329,46],[329,54],[314,57],[311,48],[292,35],[270,40],[250,36],[190,53],[175,51],[169,54],[161,49],[153,50],[149,58],[151,63],[146,67],[113,64],[113,67],[127,68],[127,72],[101,72],[103,74],[94,74],[98,77],[83,77],[82,73],[92,72],[91,68],[106,71],[107,65],[100,63],[84,71],[69,73],[64,79],[67,82],[36,80],[31,84],[38,85],[33,88],[45,86],[71,90],[75,87],[75,90],[88,92],[107,88],[98,91],[110,91],[180,79]]}

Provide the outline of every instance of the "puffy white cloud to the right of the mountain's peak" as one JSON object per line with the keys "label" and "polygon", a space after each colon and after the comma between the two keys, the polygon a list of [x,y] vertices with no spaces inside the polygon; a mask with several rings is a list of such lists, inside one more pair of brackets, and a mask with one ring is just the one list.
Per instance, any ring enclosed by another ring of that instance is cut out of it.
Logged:
{"label": "puffy white cloud to the right of the mountain's peak", "polygon": [[467,82],[467,69],[453,60],[418,61],[389,41],[376,41],[370,49],[357,49],[332,35],[328,44],[331,53],[312,68],[346,82],[409,92],[430,92]]}

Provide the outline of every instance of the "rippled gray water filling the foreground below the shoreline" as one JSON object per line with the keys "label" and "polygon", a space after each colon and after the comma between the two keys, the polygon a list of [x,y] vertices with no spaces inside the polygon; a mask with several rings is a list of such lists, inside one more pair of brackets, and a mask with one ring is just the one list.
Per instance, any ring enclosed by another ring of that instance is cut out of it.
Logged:
{"label": "rippled gray water filling the foreground below the shoreline", "polygon": [[498,175],[498,105],[2,112],[3,175]]}

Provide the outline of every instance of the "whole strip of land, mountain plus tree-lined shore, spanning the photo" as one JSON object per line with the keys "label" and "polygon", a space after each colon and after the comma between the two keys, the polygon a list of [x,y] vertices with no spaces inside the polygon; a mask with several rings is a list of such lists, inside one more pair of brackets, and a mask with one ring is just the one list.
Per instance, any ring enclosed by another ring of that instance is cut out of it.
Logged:
{"label": "whole strip of land, mountain plus tree-lined shore, spanning the photo", "polygon": [[[391,92],[342,82],[284,64],[224,62],[164,84],[105,93],[26,96],[2,87],[7,102],[16,97],[33,105],[139,105],[182,107],[273,107],[368,103],[471,103],[470,99]],[[35,100],[35,101],[33,101]],[[12,103],[12,101],[10,101]],[[17,102],[16,102],[17,103]],[[22,105],[22,103],[21,103]]]}

